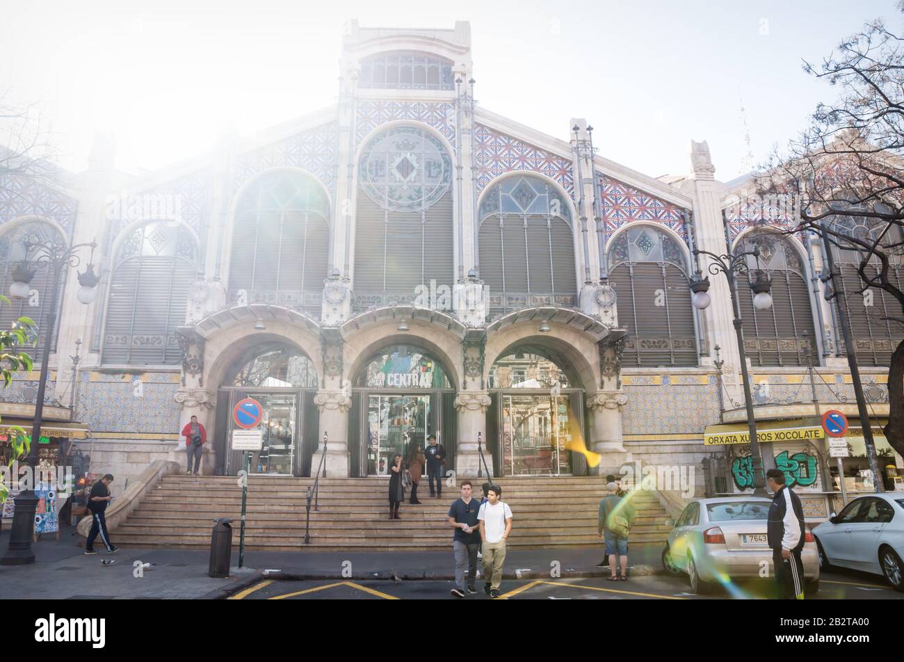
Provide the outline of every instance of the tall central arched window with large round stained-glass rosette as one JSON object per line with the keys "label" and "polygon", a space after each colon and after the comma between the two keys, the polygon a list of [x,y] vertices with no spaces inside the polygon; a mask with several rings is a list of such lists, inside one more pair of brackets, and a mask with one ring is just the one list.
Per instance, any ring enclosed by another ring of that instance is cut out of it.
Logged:
{"label": "tall central arched window with large round stained-glass rosette", "polygon": [[452,159],[427,130],[396,127],[364,147],[358,164],[354,293],[360,305],[413,300],[415,288],[451,285],[455,271]]}

